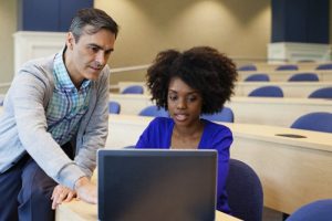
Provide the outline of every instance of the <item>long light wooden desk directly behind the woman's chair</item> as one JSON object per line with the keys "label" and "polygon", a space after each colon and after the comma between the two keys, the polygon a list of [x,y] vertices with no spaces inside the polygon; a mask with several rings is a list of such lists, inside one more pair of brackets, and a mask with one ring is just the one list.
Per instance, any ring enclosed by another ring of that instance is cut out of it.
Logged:
{"label": "long light wooden desk directly behind the woman's chair", "polygon": [[[135,145],[151,120],[151,117],[111,115],[106,147]],[[332,134],[263,125],[225,125],[235,137],[231,157],[247,162],[258,173],[266,207],[292,213],[311,201],[332,198]]]}

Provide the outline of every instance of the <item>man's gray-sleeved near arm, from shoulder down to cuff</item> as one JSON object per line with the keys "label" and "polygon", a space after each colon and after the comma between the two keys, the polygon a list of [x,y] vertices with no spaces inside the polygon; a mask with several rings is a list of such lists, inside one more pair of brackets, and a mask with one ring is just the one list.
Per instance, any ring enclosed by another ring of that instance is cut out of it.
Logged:
{"label": "man's gray-sleeved near arm, from shoulder down to cuff", "polygon": [[69,188],[85,176],[46,131],[44,99],[50,80],[42,70],[30,65],[12,82],[12,102],[18,135],[22,146],[37,164],[56,182]]}

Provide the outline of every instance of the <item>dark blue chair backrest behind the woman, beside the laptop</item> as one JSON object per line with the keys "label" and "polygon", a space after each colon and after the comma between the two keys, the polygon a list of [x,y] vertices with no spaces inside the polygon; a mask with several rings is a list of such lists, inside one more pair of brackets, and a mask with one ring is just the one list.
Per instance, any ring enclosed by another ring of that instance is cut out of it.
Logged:
{"label": "dark blue chair backrest behind the woman, beside the laptop", "polygon": [[251,167],[240,160],[229,159],[226,191],[234,217],[246,221],[262,220],[262,186]]}

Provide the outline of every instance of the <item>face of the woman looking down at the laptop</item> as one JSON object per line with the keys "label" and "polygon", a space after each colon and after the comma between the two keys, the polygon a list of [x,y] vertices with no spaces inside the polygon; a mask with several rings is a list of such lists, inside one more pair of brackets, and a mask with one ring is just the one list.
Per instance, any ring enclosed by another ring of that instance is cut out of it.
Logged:
{"label": "face of the woman looking down at the laptop", "polygon": [[167,105],[169,115],[177,126],[190,127],[199,124],[201,95],[179,77],[174,77],[169,82]]}

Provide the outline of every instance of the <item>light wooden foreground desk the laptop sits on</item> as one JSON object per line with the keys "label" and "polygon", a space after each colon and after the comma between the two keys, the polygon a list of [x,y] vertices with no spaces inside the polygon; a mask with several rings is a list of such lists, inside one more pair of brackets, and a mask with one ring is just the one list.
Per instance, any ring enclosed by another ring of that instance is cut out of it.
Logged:
{"label": "light wooden foreground desk the laptop sits on", "polygon": [[[55,212],[55,221],[95,221],[97,220],[97,206],[83,201],[62,203]],[[216,211],[216,221],[239,221],[234,217]]]}

